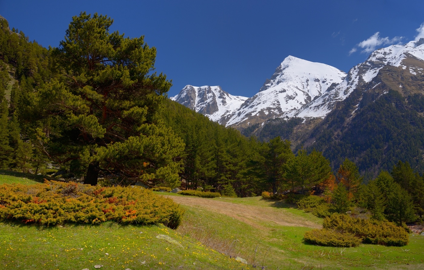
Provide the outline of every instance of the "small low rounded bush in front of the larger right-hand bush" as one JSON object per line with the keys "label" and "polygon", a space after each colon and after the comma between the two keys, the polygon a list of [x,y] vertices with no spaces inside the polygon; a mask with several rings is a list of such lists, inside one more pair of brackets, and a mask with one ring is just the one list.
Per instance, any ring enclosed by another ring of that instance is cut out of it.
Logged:
{"label": "small low rounded bush in front of the larger right-hand bush", "polygon": [[329,229],[314,229],[307,231],[304,240],[313,245],[323,245],[327,247],[356,247],[361,243],[361,239],[351,233],[340,233]]}

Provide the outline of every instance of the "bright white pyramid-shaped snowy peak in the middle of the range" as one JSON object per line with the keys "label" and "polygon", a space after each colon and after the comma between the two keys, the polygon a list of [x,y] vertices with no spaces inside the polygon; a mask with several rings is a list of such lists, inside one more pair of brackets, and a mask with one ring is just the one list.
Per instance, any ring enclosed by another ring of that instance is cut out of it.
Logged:
{"label": "bright white pyramid-shaped snowy peak in the middle of the range", "polygon": [[346,73],[322,63],[288,56],[267,79],[259,93],[245,103],[226,121],[237,129],[262,123],[272,117],[296,116],[296,112],[334,88]]}

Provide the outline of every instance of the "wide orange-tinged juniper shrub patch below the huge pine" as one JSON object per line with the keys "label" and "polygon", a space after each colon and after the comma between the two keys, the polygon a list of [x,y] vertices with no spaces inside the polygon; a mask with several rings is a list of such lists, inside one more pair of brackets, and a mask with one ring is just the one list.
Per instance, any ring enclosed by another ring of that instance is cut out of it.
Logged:
{"label": "wide orange-tinged juniper shrub patch below the huge pine", "polygon": [[0,219],[54,225],[112,220],[176,228],[183,214],[176,203],[146,189],[45,181],[0,185]]}

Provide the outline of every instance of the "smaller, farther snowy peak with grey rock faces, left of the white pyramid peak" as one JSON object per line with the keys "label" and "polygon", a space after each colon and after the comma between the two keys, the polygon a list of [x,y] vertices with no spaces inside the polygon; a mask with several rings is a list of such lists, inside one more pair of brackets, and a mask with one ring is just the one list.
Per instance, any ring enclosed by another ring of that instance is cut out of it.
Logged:
{"label": "smaller, farther snowy peak with grey rock faces, left of the white pyramid peak", "polygon": [[225,124],[223,118],[237,110],[247,97],[230,95],[220,86],[186,85],[178,95],[170,99],[208,116],[212,121]]}

